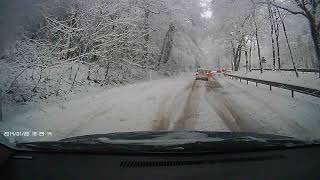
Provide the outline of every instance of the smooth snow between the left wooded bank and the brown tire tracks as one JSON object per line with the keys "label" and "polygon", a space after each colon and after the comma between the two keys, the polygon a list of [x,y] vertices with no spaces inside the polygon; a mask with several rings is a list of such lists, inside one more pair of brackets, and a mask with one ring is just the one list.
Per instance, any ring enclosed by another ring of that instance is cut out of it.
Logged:
{"label": "smooth snow between the left wooded bank and the brown tire tracks", "polygon": [[[150,130],[164,97],[170,99],[190,82],[174,78],[140,82],[111,89],[90,88],[69,99],[26,103],[4,113],[0,131],[52,132],[61,139],[84,134]],[[165,98],[166,99],[166,98]]]}

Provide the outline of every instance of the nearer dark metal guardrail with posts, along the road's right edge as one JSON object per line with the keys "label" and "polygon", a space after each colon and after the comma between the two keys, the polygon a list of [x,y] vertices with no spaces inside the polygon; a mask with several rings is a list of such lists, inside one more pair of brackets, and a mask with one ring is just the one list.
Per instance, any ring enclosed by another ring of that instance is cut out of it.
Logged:
{"label": "nearer dark metal guardrail with posts, along the road's right edge", "polygon": [[266,80],[261,80],[261,79],[253,79],[253,78],[248,78],[248,77],[241,77],[241,76],[236,76],[232,74],[227,74],[224,73],[225,76],[230,77],[231,79],[235,78],[236,80],[242,80],[247,81],[247,84],[250,82],[255,82],[256,86],[258,84],[265,84],[269,86],[270,91],[272,90],[272,87],[277,87],[281,89],[287,89],[291,91],[291,97],[294,97],[294,92],[299,92],[302,94],[307,94],[310,96],[315,96],[320,98],[320,90],[319,89],[312,89],[312,88],[307,88],[307,87],[301,87],[301,86],[296,86],[296,85],[291,85],[291,84],[285,84],[285,83],[279,83],[279,82],[273,82],[273,81],[266,81]]}

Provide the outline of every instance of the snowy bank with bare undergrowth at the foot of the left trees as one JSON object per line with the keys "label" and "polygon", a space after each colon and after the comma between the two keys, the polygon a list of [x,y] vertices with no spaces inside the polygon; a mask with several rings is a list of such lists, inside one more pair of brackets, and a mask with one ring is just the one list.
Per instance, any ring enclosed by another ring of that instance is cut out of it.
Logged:
{"label": "snowy bank with bare undergrowth at the foot of the left trees", "polygon": [[56,65],[33,66],[21,64],[11,58],[0,59],[0,89],[5,104],[65,96],[90,87],[117,86],[149,79],[147,71],[131,67],[127,70],[110,66],[64,63],[52,58]]}

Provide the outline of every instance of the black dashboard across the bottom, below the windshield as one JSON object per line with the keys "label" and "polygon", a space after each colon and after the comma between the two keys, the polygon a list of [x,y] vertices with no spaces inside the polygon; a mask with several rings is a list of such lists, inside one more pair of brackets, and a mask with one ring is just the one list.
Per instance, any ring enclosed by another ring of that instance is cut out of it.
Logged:
{"label": "black dashboard across the bottom, below the windshield", "polygon": [[320,147],[225,154],[126,155],[0,149],[1,180],[320,179]]}

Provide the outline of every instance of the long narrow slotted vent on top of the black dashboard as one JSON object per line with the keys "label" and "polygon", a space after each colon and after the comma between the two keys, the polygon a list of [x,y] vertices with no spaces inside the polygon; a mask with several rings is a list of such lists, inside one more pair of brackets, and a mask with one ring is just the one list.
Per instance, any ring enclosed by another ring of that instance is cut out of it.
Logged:
{"label": "long narrow slotted vent on top of the black dashboard", "polygon": [[200,164],[219,164],[219,163],[237,163],[248,161],[266,161],[282,159],[282,155],[272,156],[257,156],[257,157],[239,157],[239,158],[224,158],[213,160],[189,160],[189,161],[122,161],[121,168],[139,168],[139,167],[161,167],[161,166],[190,166]]}

